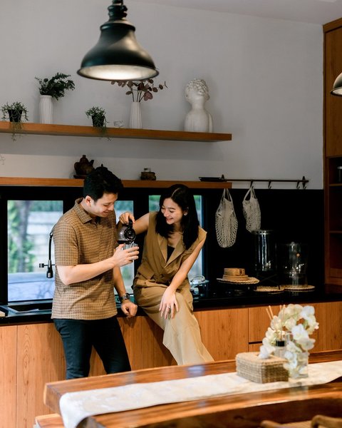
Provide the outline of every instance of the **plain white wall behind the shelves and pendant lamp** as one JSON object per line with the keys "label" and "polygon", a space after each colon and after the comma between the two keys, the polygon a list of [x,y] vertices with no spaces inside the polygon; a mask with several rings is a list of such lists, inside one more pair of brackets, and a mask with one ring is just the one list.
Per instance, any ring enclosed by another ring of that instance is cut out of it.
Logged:
{"label": "plain white wall behind the shelves and pendant lamp", "polygon": [[[182,130],[192,78],[209,86],[214,131],[232,141],[194,143],[0,134],[0,176],[72,177],[83,154],[120,178],[150,167],[161,180],[309,178],[323,188],[323,31],[317,24],[219,14],[126,0],[128,20],[168,89],[142,104],[144,128]],[[130,97],[76,74],[107,21],[110,0],[2,0],[0,105],[22,101],[38,121],[35,76],[71,74],[76,90],[54,103],[54,122],[90,125],[103,106],[128,123]],[[240,183],[241,184],[241,183]],[[241,184],[242,185],[242,184]],[[240,186],[241,186],[240,185]],[[244,187],[248,183],[243,184]],[[239,187],[237,183],[236,187]],[[257,187],[264,185],[257,184]],[[276,184],[272,188],[294,188]]]}

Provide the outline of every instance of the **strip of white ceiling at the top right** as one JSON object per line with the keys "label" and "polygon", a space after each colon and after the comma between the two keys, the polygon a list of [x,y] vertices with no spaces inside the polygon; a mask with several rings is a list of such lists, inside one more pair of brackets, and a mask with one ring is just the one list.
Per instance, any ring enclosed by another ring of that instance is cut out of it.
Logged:
{"label": "strip of white ceiling at the top right", "polygon": [[[342,0],[138,0],[145,3],[203,9],[326,24],[342,18]],[[128,2],[126,1],[126,4]]]}

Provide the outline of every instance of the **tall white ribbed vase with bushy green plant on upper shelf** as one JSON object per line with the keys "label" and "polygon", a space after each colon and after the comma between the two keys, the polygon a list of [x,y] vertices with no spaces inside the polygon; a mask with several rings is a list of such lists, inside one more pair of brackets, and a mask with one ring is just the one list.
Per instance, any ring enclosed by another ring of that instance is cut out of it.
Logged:
{"label": "tall white ribbed vase with bushy green plant on upper shelf", "polygon": [[39,102],[40,123],[52,123],[52,98],[58,100],[65,95],[66,91],[75,89],[75,83],[68,77],[70,77],[70,74],[60,72],[51,78],[35,77],[39,83],[38,89],[41,94]]}

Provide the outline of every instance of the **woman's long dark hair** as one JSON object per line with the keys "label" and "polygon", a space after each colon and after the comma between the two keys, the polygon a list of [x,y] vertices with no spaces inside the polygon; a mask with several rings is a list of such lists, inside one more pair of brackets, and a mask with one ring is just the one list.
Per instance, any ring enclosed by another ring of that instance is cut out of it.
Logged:
{"label": "woman's long dark hair", "polygon": [[155,230],[164,238],[168,238],[173,232],[173,225],[168,225],[165,221],[164,215],[162,215],[162,205],[167,198],[171,198],[173,202],[182,208],[183,211],[187,211],[187,215],[183,215],[181,220],[182,232],[183,232],[183,243],[185,248],[190,248],[195,240],[198,238],[198,226],[199,221],[197,217],[195,199],[190,189],[184,184],[174,184],[170,188],[167,188],[164,193],[160,196],[159,211],[156,217]]}

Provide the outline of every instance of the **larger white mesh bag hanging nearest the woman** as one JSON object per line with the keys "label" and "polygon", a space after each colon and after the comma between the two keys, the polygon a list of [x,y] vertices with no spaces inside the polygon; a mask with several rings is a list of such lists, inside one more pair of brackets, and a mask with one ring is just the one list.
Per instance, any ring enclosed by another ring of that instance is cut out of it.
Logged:
{"label": "larger white mesh bag hanging nearest the woman", "polygon": [[215,229],[219,246],[232,247],[237,238],[237,216],[228,189],[223,190],[219,207],[215,213]]}

